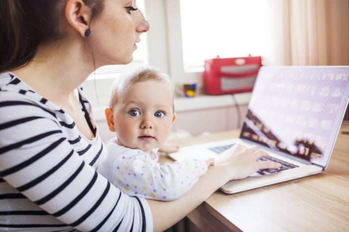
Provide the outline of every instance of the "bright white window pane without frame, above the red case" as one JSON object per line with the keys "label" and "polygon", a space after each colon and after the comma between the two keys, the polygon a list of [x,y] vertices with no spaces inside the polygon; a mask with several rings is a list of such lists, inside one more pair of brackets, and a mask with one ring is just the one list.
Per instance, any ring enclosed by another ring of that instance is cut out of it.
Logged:
{"label": "bright white window pane without frame, above the red case", "polygon": [[268,59],[270,5],[270,0],[180,0],[184,70],[202,67],[204,59],[216,55]]}

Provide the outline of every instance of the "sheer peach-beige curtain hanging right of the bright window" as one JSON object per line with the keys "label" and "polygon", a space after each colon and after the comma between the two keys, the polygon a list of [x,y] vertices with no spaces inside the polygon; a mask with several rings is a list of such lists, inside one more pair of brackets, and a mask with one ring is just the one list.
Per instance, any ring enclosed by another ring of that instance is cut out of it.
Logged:
{"label": "sheer peach-beige curtain hanging right of the bright window", "polygon": [[349,0],[275,1],[279,65],[349,65]]}

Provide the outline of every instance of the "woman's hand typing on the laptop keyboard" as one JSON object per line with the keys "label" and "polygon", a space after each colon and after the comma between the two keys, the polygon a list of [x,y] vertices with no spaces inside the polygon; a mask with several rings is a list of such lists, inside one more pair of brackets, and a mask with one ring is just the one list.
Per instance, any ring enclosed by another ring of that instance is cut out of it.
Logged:
{"label": "woman's hand typing on the laptop keyboard", "polygon": [[216,158],[216,166],[224,166],[230,180],[243,179],[255,173],[259,169],[274,169],[281,166],[280,163],[272,161],[257,161],[268,154],[258,146],[243,147],[237,143],[230,149],[222,152]]}

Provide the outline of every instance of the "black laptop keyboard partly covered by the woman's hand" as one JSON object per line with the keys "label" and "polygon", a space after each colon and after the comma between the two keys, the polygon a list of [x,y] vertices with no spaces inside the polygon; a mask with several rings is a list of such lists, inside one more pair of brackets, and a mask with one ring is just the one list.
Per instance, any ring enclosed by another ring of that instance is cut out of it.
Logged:
{"label": "black laptop keyboard partly covered by the woman's hand", "polygon": [[[232,147],[234,144],[228,144],[228,145],[225,145],[225,146],[219,146],[219,147],[211,147],[211,148],[208,148],[209,150],[219,154],[219,153],[222,153],[223,151],[229,149],[230,147]],[[291,169],[291,168],[296,168],[298,167],[297,165],[294,165],[292,163],[288,163],[284,160],[281,160],[281,159],[277,159],[275,157],[272,157],[272,156],[268,156],[268,157],[262,157],[260,159],[258,159],[258,161],[273,161],[273,162],[277,162],[277,163],[281,163],[281,167],[279,168],[276,168],[276,169],[260,169],[257,171],[257,173],[261,174],[261,175],[266,175],[266,174],[273,174],[273,173],[277,173],[277,172],[280,172],[280,171],[284,171],[284,170],[287,170],[287,169]]]}

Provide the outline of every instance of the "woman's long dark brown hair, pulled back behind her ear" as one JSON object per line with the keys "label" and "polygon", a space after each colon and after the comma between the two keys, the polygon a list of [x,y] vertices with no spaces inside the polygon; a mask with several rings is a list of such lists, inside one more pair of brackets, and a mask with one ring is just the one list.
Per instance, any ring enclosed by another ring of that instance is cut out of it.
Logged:
{"label": "woman's long dark brown hair, pulled back behind her ear", "polygon": [[[92,18],[103,10],[103,0],[83,0]],[[40,44],[65,36],[66,0],[0,0],[0,73],[20,68],[34,57]],[[65,18],[65,17],[64,17]]]}

